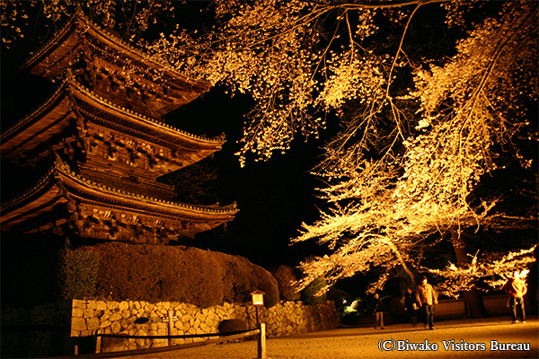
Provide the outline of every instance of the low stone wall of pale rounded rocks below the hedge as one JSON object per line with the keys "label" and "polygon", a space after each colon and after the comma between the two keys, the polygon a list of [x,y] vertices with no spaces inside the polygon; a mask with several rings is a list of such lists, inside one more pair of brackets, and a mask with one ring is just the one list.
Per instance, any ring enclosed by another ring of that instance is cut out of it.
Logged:
{"label": "low stone wall of pale rounded rocks below the hedge", "polygon": [[[163,319],[172,315],[172,329]],[[225,303],[199,308],[181,302],[114,302],[73,301],[71,337],[103,334],[131,336],[165,336],[217,333],[223,320],[244,320],[247,328],[256,328],[256,310],[252,305]],[[174,318],[175,317],[175,318]],[[140,323],[142,318],[148,319]],[[333,302],[316,306],[302,302],[279,302],[271,308],[260,308],[259,318],[266,323],[268,337],[284,337],[307,331],[337,328],[340,318]],[[136,322],[137,321],[137,322]],[[206,340],[208,337],[172,339],[172,345]],[[103,351],[133,350],[167,346],[168,339],[117,339],[103,337]]]}

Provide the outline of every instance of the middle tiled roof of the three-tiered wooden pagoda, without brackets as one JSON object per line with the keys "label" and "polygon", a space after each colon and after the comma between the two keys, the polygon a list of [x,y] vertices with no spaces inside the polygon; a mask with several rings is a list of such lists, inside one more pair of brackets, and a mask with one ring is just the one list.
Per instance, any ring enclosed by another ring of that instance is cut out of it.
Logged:
{"label": "middle tiled roof of the three-tiered wooden pagoda, without brackets", "polygon": [[[158,176],[163,175],[163,171],[168,173],[199,162],[219,151],[225,143],[224,134],[211,138],[192,135],[131,109],[120,108],[71,76],[39,109],[0,135],[0,151],[8,161],[24,162],[29,153],[58,136],[84,140],[87,131],[83,127],[87,128],[89,123],[115,130],[129,139],[135,138],[138,145],[154,144],[170,149],[174,159]],[[38,154],[33,153],[33,156]]]}

